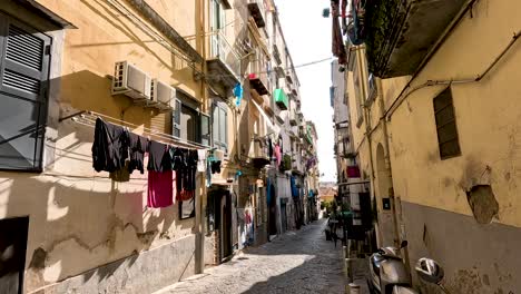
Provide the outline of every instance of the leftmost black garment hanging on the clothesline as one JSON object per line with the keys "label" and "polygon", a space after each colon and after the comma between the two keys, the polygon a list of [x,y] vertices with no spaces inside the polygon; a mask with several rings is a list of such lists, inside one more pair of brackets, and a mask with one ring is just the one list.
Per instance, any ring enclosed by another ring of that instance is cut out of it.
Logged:
{"label": "leftmost black garment hanging on the clothesline", "polygon": [[122,127],[96,119],[92,143],[92,167],[96,171],[116,171],[128,158],[128,131]]}

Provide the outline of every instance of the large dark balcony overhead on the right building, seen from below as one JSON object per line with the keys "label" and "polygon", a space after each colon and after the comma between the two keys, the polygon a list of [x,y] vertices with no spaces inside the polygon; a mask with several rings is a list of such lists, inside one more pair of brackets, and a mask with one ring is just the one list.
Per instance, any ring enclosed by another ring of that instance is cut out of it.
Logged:
{"label": "large dark balcony overhead on the right building, seen from below", "polygon": [[412,75],[466,0],[389,0],[357,10],[365,16],[370,71],[381,78]]}

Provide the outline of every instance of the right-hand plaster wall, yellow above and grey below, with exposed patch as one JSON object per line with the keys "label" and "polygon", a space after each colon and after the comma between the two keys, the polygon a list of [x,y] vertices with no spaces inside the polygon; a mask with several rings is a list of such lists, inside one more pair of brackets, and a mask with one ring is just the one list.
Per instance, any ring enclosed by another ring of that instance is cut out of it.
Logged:
{"label": "right-hand plaster wall, yellow above and grey below, with exposed patch", "polygon": [[[412,88],[476,77],[521,29],[520,10],[515,1],[478,1],[473,17],[463,18]],[[521,288],[513,278],[520,276],[520,49],[515,43],[483,80],[451,86],[461,156],[439,155],[433,98],[446,86],[414,91],[390,122],[393,184],[403,200],[411,265],[421,256],[439,259],[451,293]],[[383,87],[389,102],[401,90],[390,81]]]}

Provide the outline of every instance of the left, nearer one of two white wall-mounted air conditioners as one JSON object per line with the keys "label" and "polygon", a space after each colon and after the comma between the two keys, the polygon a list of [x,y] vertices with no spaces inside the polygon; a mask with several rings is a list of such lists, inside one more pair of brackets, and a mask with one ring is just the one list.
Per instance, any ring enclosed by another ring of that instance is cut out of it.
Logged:
{"label": "left, nearer one of two white wall-mounted air conditioners", "polygon": [[124,94],[132,99],[150,99],[151,79],[142,70],[119,61],[115,65],[112,95]]}

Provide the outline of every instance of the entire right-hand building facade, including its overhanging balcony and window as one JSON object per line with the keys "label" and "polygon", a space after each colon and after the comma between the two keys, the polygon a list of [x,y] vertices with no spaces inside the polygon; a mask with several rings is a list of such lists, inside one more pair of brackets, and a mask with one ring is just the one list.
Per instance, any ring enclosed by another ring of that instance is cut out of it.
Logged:
{"label": "entire right-hand building facade, including its overhanging balcony and window", "polygon": [[422,256],[439,261],[451,293],[514,293],[521,7],[405,1],[393,9],[403,13],[385,24],[383,4],[357,10],[365,43],[348,45],[354,63],[346,65],[379,245],[407,239],[410,267]]}

